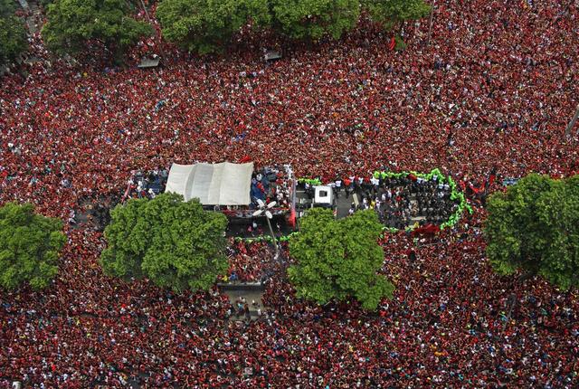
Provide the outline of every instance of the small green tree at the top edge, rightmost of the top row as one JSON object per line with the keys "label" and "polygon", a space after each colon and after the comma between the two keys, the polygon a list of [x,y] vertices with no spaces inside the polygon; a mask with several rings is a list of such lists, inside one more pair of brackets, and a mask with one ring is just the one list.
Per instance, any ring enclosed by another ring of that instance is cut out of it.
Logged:
{"label": "small green tree at the top edge, rightmost of the top row", "polygon": [[382,24],[386,30],[405,20],[422,19],[432,10],[424,0],[363,0],[363,7],[372,20]]}

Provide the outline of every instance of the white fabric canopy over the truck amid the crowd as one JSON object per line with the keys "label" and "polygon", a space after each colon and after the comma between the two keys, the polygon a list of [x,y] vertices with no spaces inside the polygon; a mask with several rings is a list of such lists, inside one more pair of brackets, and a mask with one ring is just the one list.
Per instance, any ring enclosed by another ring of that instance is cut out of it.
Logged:
{"label": "white fabric canopy over the truck amid the crowd", "polygon": [[198,198],[204,205],[249,205],[253,163],[173,164],[165,192]]}

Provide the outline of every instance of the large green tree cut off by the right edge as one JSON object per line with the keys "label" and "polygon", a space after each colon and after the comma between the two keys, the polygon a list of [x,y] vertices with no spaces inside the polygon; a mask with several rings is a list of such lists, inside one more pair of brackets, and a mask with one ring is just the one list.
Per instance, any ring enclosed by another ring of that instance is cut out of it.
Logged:
{"label": "large green tree cut off by the right edge", "polygon": [[579,176],[531,174],[492,194],[487,256],[499,274],[523,270],[562,289],[579,284]]}

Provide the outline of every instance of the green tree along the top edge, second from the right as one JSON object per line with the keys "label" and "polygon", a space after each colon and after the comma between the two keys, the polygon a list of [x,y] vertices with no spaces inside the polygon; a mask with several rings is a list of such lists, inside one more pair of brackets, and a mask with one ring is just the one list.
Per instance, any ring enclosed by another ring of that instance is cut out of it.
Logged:
{"label": "green tree along the top edge, second from the right", "polygon": [[292,39],[340,38],[360,16],[358,0],[270,0],[273,27]]}

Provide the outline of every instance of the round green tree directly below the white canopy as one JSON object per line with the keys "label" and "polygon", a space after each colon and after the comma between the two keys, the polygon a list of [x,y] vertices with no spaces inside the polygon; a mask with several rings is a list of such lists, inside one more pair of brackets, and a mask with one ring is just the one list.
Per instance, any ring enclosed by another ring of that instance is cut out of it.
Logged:
{"label": "round green tree directly below the white canopy", "polygon": [[223,213],[179,194],[130,200],[111,211],[100,264],[110,276],[142,279],[177,292],[210,289],[227,270]]}

